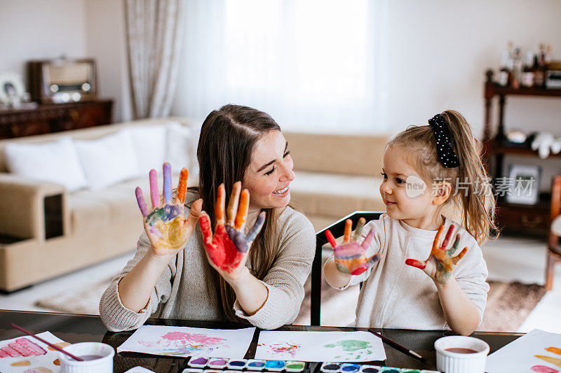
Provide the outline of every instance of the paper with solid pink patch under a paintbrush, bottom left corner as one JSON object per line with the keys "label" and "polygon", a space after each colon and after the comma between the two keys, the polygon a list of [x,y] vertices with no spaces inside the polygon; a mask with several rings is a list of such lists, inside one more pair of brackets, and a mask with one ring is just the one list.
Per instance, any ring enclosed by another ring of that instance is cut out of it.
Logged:
{"label": "paper with solid pink patch under a paintbrush, bottom left corner", "polygon": [[[37,336],[60,347],[69,345],[50,332],[42,332]],[[28,335],[0,342],[0,372],[29,370],[56,373],[60,371],[60,365],[56,365],[55,360],[58,360],[58,351]]]}

